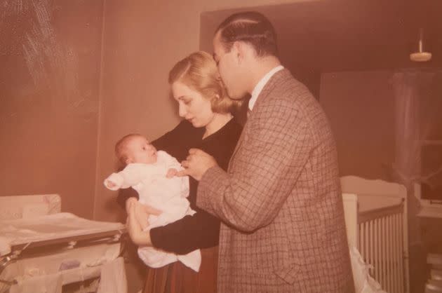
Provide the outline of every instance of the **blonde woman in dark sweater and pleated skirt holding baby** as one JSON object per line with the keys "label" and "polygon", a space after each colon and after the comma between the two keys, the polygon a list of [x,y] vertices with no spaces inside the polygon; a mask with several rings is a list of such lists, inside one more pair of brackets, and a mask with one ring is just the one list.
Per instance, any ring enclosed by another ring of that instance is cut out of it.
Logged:
{"label": "blonde woman in dark sweater and pleated skirt holding baby", "polygon": [[[229,99],[212,56],[192,53],[169,73],[179,114],[185,118],[175,129],[152,142],[182,161],[189,149],[198,148],[213,156],[227,170],[241,126],[234,121],[236,102]],[[196,180],[189,178],[189,202],[196,211],[163,227],[141,231],[129,211],[128,232],[136,245],[152,245],[166,252],[187,254],[201,249],[201,268],[195,273],[180,262],[163,268],[149,268],[145,292],[216,292],[217,244],[220,221],[196,207]],[[126,200],[126,206],[130,201]],[[132,205],[135,206],[135,205]]]}

